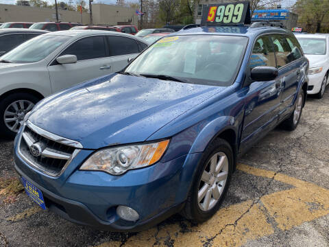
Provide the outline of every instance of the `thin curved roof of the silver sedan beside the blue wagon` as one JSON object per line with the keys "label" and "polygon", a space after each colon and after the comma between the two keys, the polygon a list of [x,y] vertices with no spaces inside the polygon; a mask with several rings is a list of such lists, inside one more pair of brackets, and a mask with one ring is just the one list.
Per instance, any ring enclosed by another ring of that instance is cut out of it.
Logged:
{"label": "thin curved roof of the silver sedan beside the blue wagon", "polygon": [[84,37],[84,36],[97,35],[97,34],[98,35],[113,34],[116,36],[125,36],[125,37],[129,37],[129,38],[135,38],[136,40],[139,40],[139,41],[145,43],[145,40],[143,40],[143,38],[139,38],[139,37],[133,36],[131,34],[125,34],[125,33],[121,33],[121,32],[112,32],[112,31],[106,31],[106,30],[65,30],[65,31],[49,32],[49,34],[45,34],[45,35],[70,36],[70,37],[80,38],[80,37]]}

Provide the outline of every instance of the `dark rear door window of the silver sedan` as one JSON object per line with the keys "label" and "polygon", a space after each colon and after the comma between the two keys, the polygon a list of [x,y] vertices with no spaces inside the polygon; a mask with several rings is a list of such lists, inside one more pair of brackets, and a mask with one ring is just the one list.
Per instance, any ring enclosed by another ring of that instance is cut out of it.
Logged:
{"label": "dark rear door window of the silver sedan", "polygon": [[133,38],[107,36],[110,56],[122,56],[139,53],[138,45]]}

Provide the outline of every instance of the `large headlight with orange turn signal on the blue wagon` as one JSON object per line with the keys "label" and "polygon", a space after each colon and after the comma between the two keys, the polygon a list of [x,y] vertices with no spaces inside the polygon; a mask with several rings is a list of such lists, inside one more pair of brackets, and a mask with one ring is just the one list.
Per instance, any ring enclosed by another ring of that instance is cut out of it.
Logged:
{"label": "large headlight with orange turn signal on the blue wagon", "polygon": [[126,145],[95,152],[80,167],[120,175],[127,170],[147,167],[158,162],[167,150],[169,140],[143,145]]}

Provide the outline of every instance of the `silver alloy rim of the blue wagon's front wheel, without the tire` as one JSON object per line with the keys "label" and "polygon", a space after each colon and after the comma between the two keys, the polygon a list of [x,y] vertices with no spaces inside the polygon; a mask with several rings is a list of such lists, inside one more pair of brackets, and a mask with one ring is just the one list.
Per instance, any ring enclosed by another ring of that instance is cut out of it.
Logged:
{"label": "silver alloy rim of the blue wagon's front wheel, without the tire", "polygon": [[228,180],[228,157],[223,152],[214,154],[208,164],[199,183],[197,201],[199,209],[209,211],[219,201]]}

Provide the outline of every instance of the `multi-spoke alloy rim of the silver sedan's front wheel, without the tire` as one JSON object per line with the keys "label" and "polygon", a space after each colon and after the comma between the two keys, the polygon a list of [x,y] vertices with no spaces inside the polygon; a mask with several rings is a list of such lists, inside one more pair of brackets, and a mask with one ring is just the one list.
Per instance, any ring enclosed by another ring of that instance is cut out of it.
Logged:
{"label": "multi-spoke alloy rim of the silver sedan's front wheel, without the tire", "polygon": [[5,126],[12,130],[12,132],[18,132],[26,113],[32,110],[33,107],[34,103],[25,99],[12,102],[5,109],[5,114],[3,115]]}

